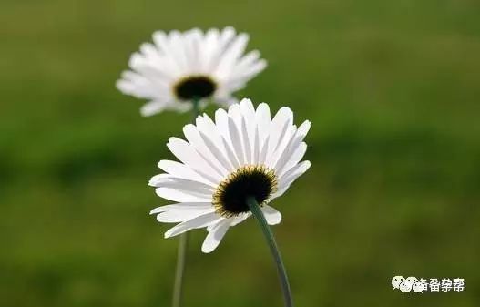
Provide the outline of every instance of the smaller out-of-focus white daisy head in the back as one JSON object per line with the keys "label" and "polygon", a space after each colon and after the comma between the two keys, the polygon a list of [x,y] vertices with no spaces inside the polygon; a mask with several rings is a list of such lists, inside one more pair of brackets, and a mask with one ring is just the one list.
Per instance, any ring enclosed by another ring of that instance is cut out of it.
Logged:
{"label": "smaller out-of-focus white daisy head in the back", "polygon": [[144,43],[130,57],[131,70],[122,74],[117,88],[149,100],[140,110],[144,116],[187,111],[193,101],[203,107],[209,99],[228,107],[237,101],[232,93],[267,66],[259,51],[244,54],[248,41],[247,34],[232,27],[155,32],[153,44]]}

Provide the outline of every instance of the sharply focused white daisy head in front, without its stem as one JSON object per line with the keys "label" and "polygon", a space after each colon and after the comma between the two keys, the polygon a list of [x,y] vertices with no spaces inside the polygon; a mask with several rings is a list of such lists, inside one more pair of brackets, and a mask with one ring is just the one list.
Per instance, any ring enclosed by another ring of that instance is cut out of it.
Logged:
{"label": "sharply focused white daisy head in front, without its stem", "polygon": [[310,121],[293,125],[289,107],[271,119],[270,108],[255,109],[250,99],[219,109],[215,122],[206,114],[196,125],[183,128],[185,138],[170,138],[167,147],[180,162],[161,160],[165,173],[149,185],[159,197],[178,203],[158,207],[160,222],[179,223],[165,233],[173,237],[188,230],[207,228],[202,251],[213,251],[231,226],[250,217],[248,197],[254,197],[270,225],[281,213],[268,203],[281,196],[291,183],[310,168],[301,161]]}

